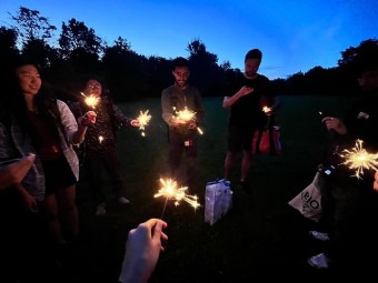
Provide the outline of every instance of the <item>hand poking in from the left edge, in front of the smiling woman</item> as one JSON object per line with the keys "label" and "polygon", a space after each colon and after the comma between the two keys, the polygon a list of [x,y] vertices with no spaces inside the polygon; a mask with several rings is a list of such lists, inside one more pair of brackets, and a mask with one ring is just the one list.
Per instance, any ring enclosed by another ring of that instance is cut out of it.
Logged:
{"label": "hand poking in from the left edge, in front of the smiling woman", "polygon": [[21,183],[24,175],[34,163],[36,154],[28,155],[12,163],[0,166],[0,189]]}

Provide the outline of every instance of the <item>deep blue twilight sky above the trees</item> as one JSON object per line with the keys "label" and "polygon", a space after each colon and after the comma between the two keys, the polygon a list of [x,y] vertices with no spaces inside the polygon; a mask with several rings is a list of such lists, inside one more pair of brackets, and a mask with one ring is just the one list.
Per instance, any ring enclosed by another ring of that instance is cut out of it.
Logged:
{"label": "deep blue twilight sky above the trees", "polygon": [[243,70],[246,52],[259,48],[269,79],[336,67],[341,51],[378,39],[377,0],[1,0],[0,26],[20,6],[49,18],[57,37],[74,18],[109,46],[122,37],[146,57],[188,57],[199,39],[218,63]]}

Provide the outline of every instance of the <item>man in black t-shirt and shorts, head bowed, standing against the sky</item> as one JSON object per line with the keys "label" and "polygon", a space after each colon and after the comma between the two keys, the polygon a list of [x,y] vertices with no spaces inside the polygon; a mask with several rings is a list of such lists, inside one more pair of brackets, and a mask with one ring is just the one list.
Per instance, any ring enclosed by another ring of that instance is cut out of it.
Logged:
{"label": "man in black t-shirt and shorts, head bowed, standing against the sky", "polygon": [[229,180],[237,152],[242,150],[240,188],[246,190],[247,175],[251,159],[253,132],[267,125],[268,117],[278,108],[270,81],[259,74],[262,52],[258,49],[248,51],[245,58],[245,72],[232,85],[232,95],[225,97],[223,108],[231,110],[228,125],[228,149],[225,160],[225,179]]}

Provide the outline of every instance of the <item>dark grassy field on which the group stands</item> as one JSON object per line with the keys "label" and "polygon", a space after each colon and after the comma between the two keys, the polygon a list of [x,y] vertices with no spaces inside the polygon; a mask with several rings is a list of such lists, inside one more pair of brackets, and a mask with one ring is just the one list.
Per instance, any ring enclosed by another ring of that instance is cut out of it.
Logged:
{"label": "dark grassy field on which the group stands", "polygon": [[[166,252],[161,254],[150,282],[255,282],[280,276],[327,274],[307,266],[306,260],[321,247],[309,239],[316,224],[302,218],[287,202],[311,182],[327,142],[319,111],[340,115],[350,99],[326,97],[282,97],[277,124],[281,127],[282,155],[253,158],[249,174],[251,193],[235,189],[235,206],[210,226],[203,221],[203,206],[195,211],[186,203],[168,202],[162,219],[168,222]],[[221,98],[203,99],[206,120],[200,137],[199,179],[193,191],[205,205],[208,181],[223,175],[226,129],[229,111]],[[136,129],[118,132],[118,150],[131,203],[120,206],[108,188],[109,209],[94,216],[86,175],[78,188],[84,246],[79,254],[80,282],[117,282],[127,232],[149,218],[160,218],[163,199],[155,199],[159,178],[167,170],[167,130],[161,120],[160,100],[149,99],[121,105],[128,117],[149,109],[152,114],[147,137]],[[239,162],[231,185],[239,179]],[[109,181],[105,178],[106,181]]]}

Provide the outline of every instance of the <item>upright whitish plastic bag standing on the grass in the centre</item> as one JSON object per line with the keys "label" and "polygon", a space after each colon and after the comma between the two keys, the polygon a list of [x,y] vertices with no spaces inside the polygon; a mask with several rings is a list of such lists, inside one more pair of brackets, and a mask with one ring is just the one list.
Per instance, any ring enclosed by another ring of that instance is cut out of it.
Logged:
{"label": "upright whitish plastic bag standing on the grass in the centre", "polygon": [[216,180],[206,184],[205,222],[212,225],[220,220],[232,206],[230,181]]}

